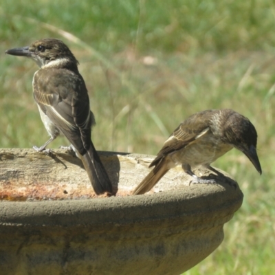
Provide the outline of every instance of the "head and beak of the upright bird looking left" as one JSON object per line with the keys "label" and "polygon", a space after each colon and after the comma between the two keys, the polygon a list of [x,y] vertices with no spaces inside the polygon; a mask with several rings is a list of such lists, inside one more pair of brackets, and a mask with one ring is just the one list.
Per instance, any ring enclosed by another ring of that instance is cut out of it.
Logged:
{"label": "head and beak of the upright bird looking left", "polygon": [[66,63],[78,65],[69,47],[58,39],[41,39],[30,46],[5,51],[13,56],[26,56],[34,59],[39,67],[58,67]]}

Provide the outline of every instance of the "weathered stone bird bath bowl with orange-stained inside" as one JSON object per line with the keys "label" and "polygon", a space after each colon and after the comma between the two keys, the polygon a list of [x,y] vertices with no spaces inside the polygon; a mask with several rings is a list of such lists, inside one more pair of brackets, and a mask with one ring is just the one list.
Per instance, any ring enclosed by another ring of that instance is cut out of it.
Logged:
{"label": "weathered stone bird bath bowl with orange-stained inside", "polygon": [[189,186],[180,168],[131,195],[153,157],[100,153],[115,197],[96,197],[80,160],[0,149],[1,274],[169,274],[190,269],[223,241],[243,201],[228,175]]}

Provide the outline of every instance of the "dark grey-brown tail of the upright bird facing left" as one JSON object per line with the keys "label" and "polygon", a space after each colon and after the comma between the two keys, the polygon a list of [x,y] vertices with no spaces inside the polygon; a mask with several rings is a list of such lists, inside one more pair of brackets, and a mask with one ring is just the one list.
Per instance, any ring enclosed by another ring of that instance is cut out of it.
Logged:
{"label": "dark grey-brown tail of the upright bird facing left", "polygon": [[85,166],[96,195],[103,194],[104,192],[112,194],[113,187],[111,181],[92,142],[89,151],[84,155],[80,155],[80,158]]}

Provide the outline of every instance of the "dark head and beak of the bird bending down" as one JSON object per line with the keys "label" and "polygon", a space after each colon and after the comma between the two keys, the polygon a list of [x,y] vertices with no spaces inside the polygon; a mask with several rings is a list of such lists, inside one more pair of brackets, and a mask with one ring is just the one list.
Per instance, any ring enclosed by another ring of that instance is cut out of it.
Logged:
{"label": "dark head and beak of the bird bending down", "polygon": [[261,174],[261,164],[256,152],[257,132],[254,125],[240,113],[232,111],[225,115],[223,122],[224,142],[243,152]]}

